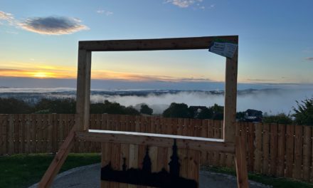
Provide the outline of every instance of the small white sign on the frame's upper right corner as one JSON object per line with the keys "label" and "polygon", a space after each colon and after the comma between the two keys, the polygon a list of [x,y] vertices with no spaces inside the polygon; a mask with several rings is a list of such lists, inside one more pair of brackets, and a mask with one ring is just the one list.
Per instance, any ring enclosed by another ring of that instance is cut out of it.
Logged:
{"label": "small white sign on the frame's upper right corner", "polygon": [[238,44],[235,43],[213,42],[213,45],[208,49],[208,51],[227,58],[233,58],[237,48]]}

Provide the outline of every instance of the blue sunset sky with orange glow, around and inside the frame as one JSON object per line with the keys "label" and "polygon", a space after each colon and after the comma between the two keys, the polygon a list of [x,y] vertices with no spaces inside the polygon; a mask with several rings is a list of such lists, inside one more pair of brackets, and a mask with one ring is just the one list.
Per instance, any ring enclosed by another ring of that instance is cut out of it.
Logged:
{"label": "blue sunset sky with orange glow, around and inside the frame", "polygon": [[[313,1],[0,1],[0,86],[12,77],[75,79],[78,41],[218,35],[239,36],[240,83],[313,83],[312,7]],[[224,61],[206,50],[93,53],[92,76],[223,82]]]}

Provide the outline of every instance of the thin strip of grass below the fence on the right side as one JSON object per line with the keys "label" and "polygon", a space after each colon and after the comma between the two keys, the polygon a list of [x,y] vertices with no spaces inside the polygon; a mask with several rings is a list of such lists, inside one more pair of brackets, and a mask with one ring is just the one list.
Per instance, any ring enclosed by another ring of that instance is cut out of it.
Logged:
{"label": "thin strip of grass below the fence on the right side", "polygon": [[[235,170],[223,168],[223,167],[201,167],[203,170],[208,170],[211,172],[218,172],[223,174],[231,174],[235,176]],[[282,177],[271,177],[262,174],[248,174],[250,180],[255,182],[260,182],[262,184],[272,185],[275,188],[313,188],[313,184],[307,182],[299,182],[292,179],[282,178]]]}

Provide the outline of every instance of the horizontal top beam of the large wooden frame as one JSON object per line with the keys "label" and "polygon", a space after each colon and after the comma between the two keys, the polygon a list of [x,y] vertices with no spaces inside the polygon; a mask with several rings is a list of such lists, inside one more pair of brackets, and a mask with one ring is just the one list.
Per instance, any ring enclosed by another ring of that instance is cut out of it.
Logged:
{"label": "horizontal top beam of the large wooden frame", "polygon": [[207,49],[215,39],[238,43],[238,36],[203,36],[190,38],[80,41],[79,49],[86,51],[159,51]]}

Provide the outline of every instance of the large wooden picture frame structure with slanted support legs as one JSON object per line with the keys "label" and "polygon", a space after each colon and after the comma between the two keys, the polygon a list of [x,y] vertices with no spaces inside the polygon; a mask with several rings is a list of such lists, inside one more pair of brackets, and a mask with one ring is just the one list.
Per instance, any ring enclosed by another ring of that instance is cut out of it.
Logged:
{"label": "large wooden picture frame structure with slanted support legs", "polygon": [[[197,50],[208,49],[214,41],[228,41],[238,44],[238,36],[203,36],[191,38],[156,38],[134,40],[110,41],[80,41],[78,47],[78,82],[76,100],[76,124],[70,134],[81,139],[94,142],[113,142],[112,138],[121,139],[114,142],[136,143],[149,140],[150,145],[163,145],[160,139],[166,137],[158,135],[129,134],[129,132],[90,132],[90,79],[92,51],[168,51],[168,50]],[[178,147],[194,150],[214,150],[235,154],[235,164],[238,187],[248,187],[248,173],[245,159],[245,142],[235,135],[236,98],[237,98],[238,50],[233,58],[226,58],[226,87],[225,107],[223,121],[223,139],[208,139],[201,137],[176,137]],[[133,139],[135,138],[136,139]],[[139,138],[138,138],[139,137]],[[158,139],[152,139],[158,138]],[[124,139],[122,139],[124,138]],[[60,152],[55,156],[46,174],[41,179],[39,187],[49,187],[55,174],[63,164],[70,147],[73,145],[74,136],[69,136],[60,147]],[[113,139],[114,140],[114,139]],[[132,141],[130,141],[132,140]],[[157,140],[157,141],[155,141]],[[166,141],[164,141],[166,142]],[[187,143],[187,144],[186,144]]]}

